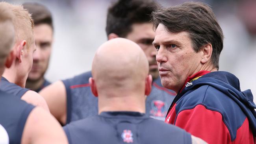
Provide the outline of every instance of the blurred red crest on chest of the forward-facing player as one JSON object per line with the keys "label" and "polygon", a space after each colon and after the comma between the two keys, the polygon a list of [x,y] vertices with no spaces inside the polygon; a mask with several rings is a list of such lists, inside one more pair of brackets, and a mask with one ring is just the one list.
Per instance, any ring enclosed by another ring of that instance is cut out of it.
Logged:
{"label": "blurred red crest on chest of the forward-facing player", "polygon": [[162,102],[161,100],[153,101],[151,104],[151,107],[152,107],[152,109],[151,109],[150,113],[153,116],[163,117],[167,113],[166,104],[165,104],[165,102]]}

